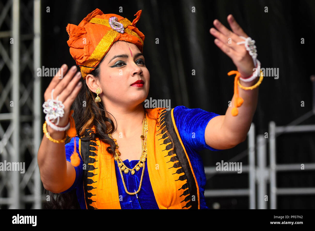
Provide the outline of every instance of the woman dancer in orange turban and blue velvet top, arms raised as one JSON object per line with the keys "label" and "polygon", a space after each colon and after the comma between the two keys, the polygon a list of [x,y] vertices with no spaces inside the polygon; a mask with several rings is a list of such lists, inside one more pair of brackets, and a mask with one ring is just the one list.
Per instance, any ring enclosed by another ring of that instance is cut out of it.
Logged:
{"label": "woman dancer in orange turban and blue velvet top, arms raised", "polygon": [[[142,54],[145,36],[135,27],[140,15],[130,22],[95,9],[66,28],[81,72],[73,66],[66,73],[64,64],[47,87],[38,151],[44,188],[59,198],[75,192],[61,208],[206,209],[198,151],[228,149],[246,139],[262,80],[255,41],[232,15],[233,32],[217,19],[217,30],[210,29],[238,69],[228,73],[236,76],[225,115],[184,106],[144,108],[150,74]],[[50,203],[58,202],[53,197]]]}

